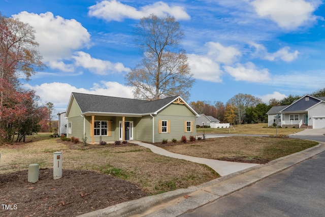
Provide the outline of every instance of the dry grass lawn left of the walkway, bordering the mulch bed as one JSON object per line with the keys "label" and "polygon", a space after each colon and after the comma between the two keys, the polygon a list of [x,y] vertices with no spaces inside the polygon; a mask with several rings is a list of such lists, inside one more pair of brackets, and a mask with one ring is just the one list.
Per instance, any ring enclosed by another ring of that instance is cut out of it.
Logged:
{"label": "dry grass lawn left of the walkway, bordering the mulch bed", "polygon": [[187,188],[219,177],[204,165],[171,159],[141,146],[103,147],[85,150],[47,139],[0,146],[0,174],[27,170],[29,164],[53,167],[53,152],[62,151],[63,169],[91,170],[111,174],[137,184],[148,194]]}

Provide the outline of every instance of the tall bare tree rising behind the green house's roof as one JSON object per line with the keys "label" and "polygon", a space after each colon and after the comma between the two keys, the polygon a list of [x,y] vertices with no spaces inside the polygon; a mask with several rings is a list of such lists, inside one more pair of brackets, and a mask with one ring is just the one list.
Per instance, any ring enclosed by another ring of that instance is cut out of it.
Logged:
{"label": "tall bare tree rising behind the green house's roof", "polygon": [[156,100],[180,95],[189,98],[194,82],[185,51],[180,48],[184,36],[174,17],[143,17],[135,28],[142,61],[126,76],[138,99]]}

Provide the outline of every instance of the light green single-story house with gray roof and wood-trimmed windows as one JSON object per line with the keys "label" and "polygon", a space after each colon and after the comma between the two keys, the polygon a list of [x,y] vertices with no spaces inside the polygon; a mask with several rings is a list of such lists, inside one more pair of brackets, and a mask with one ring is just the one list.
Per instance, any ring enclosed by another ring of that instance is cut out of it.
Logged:
{"label": "light green single-story house with gray roof and wood-trimmed windows", "polygon": [[88,143],[139,140],[161,142],[196,137],[194,111],[180,96],[145,101],[99,95],[71,94],[67,137]]}

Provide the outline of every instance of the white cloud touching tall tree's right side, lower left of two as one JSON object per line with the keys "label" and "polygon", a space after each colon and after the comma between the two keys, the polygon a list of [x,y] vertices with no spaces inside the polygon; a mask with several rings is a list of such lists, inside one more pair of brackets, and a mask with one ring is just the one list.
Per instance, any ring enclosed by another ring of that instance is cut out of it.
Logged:
{"label": "white cloud touching tall tree's right side, lower left of two", "polygon": [[221,82],[222,71],[216,61],[207,56],[187,54],[188,65],[194,78],[204,81]]}

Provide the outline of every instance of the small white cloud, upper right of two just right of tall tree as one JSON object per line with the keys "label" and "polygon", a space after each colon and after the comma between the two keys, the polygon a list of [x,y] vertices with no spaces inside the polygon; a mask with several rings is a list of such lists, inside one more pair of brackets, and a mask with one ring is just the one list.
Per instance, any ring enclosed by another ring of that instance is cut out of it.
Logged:
{"label": "small white cloud, upper right of two just right of tall tree", "polygon": [[208,47],[208,56],[214,58],[218,63],[232,64],[237,61],[242,53],[235,47],[224,47],[218,42],[208,42],[205,44]]}

